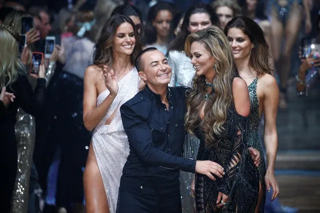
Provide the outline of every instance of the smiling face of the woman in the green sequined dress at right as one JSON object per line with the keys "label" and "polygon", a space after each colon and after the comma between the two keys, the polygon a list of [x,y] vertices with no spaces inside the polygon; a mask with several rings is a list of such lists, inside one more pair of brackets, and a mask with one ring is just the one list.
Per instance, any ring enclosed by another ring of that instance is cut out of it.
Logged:
{"label": "smiling face of the woman in the green sequined dress at right", "polygon": [[242,29],[232,27],[228,30],[227,36],[235,60],[250,58],[253,43]]}

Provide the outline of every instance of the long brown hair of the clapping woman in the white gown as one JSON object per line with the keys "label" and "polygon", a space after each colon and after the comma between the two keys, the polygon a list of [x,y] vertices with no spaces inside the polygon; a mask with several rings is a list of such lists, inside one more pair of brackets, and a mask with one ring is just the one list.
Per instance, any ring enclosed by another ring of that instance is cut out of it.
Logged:
{"label": "long brown hair of the clapping woman in the white gown", "polygon": [[113,39],[116,35],[118,26],[124,22],[130,23],[135,33],[136,43],[133,52],[130,55],[131,64],[134,64],[136,56],[142,50],[140,35],[131,18],[126,15],[119,14],[111,16],[103,26],[101,35],[95,45],[93,64],[98,66],[101,66],[102,64],[106,64],[109,67],[112,66],[112,62],[115,59],[112,49]]}

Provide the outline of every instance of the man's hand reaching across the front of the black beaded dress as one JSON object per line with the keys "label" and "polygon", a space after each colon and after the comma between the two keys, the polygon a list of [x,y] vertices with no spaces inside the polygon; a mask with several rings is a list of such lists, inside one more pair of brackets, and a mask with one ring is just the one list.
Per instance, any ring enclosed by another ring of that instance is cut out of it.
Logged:
{"label": "man's hand reaching across the front of the black beaded dress", "polygon": [[215,177],[212,174],[215,174],[218,177],[224,175],[223,167],[210,160],[197,160],[195,171],[207,175],[212,180],[215,180]]}

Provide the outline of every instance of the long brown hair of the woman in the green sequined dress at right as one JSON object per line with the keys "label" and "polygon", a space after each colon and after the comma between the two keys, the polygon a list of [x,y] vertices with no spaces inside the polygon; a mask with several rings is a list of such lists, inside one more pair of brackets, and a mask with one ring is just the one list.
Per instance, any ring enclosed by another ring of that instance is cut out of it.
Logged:
{"label": "long brown hair of the woman in the green sequined dress at right", "polygon": [[269,55],[269,45],[264,39],[261,27],[254,20],[243,15],[235,17],[227,23],[224,28],[225,35],[228,35],[229,29],[233,27],[241,29],[253,44],[249,65],[257,72],[257,75],[273,74],[269,64],[269,58],[271,57]]}

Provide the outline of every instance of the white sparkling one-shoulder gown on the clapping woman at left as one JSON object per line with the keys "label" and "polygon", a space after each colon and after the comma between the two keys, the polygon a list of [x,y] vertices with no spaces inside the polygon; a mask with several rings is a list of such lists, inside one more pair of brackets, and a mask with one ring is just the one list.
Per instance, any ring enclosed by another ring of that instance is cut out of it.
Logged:
{"label": "white sparkling one-shoulder gown on the clapping woman at left", "polygon": [[[107,114],[96,126],[92,136],[93,149],[105,186],[110,213],[116,212],[120,177],[129,155],[129,142],[123,129],[120,106],[138,93],[139,79],[137,69],[134,67],[118,82],[118,94]],[[107,89],[99,94],[97,106],[109,93]],[[110,125],[105,125],[107,119],[115,110],[116,113]]]}

